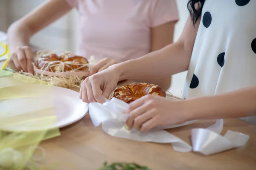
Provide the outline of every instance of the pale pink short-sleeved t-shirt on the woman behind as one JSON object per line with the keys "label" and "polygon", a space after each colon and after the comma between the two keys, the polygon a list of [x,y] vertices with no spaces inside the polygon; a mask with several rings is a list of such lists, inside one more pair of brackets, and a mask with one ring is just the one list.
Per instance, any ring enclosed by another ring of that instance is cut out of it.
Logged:
{"label": "pale pink short-sleeved t-shirt on the woman behind", "polygon": [[150,52],[151,29],[179,19],[175,0],[66,0],[79,11],[78,54],[126,61]]}

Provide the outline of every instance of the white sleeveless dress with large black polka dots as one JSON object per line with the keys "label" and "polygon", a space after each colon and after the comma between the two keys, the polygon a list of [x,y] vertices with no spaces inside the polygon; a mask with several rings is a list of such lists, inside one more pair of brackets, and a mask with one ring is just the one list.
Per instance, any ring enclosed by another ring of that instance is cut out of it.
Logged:
{"label": "white sleeveless dress with large black polka dots", "polygon": [[223,94],[253,85],[256,0],[206,0],[183,98]]}

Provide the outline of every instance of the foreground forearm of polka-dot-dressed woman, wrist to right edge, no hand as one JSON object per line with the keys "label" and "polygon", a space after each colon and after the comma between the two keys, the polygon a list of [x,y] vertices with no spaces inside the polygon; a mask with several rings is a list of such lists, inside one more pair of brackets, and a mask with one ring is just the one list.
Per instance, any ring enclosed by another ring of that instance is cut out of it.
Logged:
{"label": "foreground forearm of polka-dot-dressed woman, wrist to right edge, no hand", "polygon": [[256,116],[256,86],[184,102],[190,120]]}

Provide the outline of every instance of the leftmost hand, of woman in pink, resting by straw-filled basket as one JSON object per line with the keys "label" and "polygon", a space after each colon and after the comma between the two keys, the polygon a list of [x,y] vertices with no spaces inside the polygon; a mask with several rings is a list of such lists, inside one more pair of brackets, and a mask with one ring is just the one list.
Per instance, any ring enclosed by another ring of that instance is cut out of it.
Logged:
{"label": "leftmost hand, of woman in pink, resting by straw-filled basket", "polygon": [[29,46],[18,47],[12,54],[7,63],[9,68],[12,68],[16,72],[23,70],[30,74],[34,74],[32,62],[34,56],[32,49]]}

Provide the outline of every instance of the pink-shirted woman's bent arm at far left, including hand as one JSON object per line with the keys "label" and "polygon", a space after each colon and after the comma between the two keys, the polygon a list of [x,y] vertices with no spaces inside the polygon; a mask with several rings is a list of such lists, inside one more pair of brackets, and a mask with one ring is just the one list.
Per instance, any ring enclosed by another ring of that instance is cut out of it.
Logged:
{"label": "pink-shirted woman's bent arm at far left, including hand", "polygon": [[48,0],[13,23],[7,32],[11,54],[9,65],[16,71],[21,69],[26,71],[27,66],[31,69],[33,56],[29,47],[26,46],[29,45],[30,37],[70,10],[71,7],[65,0]]}

